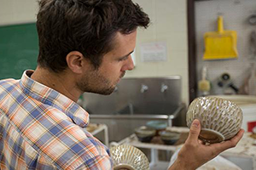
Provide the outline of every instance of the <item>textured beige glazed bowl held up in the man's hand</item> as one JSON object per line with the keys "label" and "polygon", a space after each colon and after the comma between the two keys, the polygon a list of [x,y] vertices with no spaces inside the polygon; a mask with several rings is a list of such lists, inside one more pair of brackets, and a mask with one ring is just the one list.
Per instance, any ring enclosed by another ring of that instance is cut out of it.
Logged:
{"label": "textured beige glazed bowl held up in the man's hand", "polygon": [[201,122],[200,138],[207,143],[231,139],[239,132],[242,123],[241,108],[235,103],[215,97],[195,99],[187,112],[187,125],[193,120]]}

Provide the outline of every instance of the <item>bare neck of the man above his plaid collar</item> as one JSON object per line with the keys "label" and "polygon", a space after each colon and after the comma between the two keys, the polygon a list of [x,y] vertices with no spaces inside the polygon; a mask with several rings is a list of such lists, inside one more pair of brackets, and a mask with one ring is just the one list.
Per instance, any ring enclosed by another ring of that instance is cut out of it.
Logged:
{"label": "bare neck of the man above his plaid collar", "polygon": [[55,73],[38,66],[31,78],[49,88],[55,89],[57,92],[67,96],[67,98],[72,99],[74,102],[77,102],[82,92],[74,83],[75,77],[70,74],[71,73],[68,73],[68,71]]}

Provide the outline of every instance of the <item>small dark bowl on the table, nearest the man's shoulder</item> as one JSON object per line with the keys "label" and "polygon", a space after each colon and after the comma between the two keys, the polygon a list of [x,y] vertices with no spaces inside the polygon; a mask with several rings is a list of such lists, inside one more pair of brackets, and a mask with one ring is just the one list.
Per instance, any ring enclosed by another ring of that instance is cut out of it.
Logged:
{"label": "small dark bowl on the table, nearest the man's shoulder", "polygon": [[141,141],[141,142],[150,142],[151,139],[153,139],[156,131],[152,128],[149,127],[137,127],[134,130],[134,133],[137,135],[137,138]]}

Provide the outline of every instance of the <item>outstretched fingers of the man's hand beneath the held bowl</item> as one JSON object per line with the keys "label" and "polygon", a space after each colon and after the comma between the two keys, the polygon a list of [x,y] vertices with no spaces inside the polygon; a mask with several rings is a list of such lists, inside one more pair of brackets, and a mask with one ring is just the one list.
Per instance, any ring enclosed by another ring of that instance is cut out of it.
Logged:
{"label": "outstretched fingers of the man's hand beneath the held bowl", "polygon": [[224,150],[227,150],[227,149],[230,149],[230,148],[233,148],[233,147],[236,147],[236,144],[240,141],[240,139],[242,138],[242,135],[244,133],[244,130],[241,129],[235,137],[233,137],[232,139],[230,140],[227,140],[227,141],[224,141],[223,143],[221,144],[212,144],[213,147],[216,147],[216,149],[219,151],[219,152],[222,152]]}

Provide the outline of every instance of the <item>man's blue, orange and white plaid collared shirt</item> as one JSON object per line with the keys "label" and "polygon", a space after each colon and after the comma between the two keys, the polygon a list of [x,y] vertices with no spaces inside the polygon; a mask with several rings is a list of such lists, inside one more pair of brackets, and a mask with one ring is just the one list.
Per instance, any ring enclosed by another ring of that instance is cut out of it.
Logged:
{"label": "man's blue, orange and white plaid collared shirt", "polygon": [[32,72],[0,81],[0,169],[112,169],[106,146],[85,130],[89,114]]}

